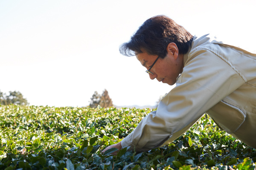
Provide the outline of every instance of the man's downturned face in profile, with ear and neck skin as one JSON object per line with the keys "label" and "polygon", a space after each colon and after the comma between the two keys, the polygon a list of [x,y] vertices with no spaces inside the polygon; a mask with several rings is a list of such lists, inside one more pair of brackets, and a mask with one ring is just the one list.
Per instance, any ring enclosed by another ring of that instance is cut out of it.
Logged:
{"label": "man's downturned face in profile, with ear and neck skin", "polygon": [[[157,59],[157,55],[149,55],[145,50],[143,53],[137,54],[136,58],[146,68],[150,69],[150,66]],[[167,50],[168,52],[168,50]],[[178,55],[175,52],[168,52],[165,58],[159,58],[154,66],[151,68],[151,72],[154,75],[149,74],[149,77],[157,79],[162,83],[173,85],[176,83],[176,78],[183,70],[183,55]]]}

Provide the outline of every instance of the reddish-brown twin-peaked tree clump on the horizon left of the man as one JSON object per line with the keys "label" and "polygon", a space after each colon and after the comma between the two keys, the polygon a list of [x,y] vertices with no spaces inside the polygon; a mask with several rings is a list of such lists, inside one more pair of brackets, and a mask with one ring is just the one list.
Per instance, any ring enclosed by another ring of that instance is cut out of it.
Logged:
{"label": "reddish-brown twin-peaked tree clump on the horizon left of the man", "polygon": [[99,93],[95,91],[90,99],[90,107],[96,108],[98,105],[105,108],[113,107],[112,100],[109,97],[108,91],[106,89],[102,92],[102,95],[99,95]]}

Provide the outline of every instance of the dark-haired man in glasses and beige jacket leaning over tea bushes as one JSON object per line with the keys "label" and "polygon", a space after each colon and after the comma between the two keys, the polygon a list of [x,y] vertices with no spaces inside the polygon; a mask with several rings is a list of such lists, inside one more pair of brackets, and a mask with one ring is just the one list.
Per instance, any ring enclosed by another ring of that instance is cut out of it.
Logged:
{"label": "dark-haired man in glasses and beige jacket leaning over tea bushes", "polygon": [[120,52],[136,55],[152,80],[176,87],[131,134],[103,152],[163,146],[205,112],[221,130],[256,148],[256,54],[209,35],[193,37],[163,15],[146,20]]}

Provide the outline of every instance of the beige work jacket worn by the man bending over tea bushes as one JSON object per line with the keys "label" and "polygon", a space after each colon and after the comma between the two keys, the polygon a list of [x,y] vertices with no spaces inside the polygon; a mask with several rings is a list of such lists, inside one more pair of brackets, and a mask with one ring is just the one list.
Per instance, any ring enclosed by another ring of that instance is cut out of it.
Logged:
{"label": "beige work jacket worn by the man bending over tea bushes", "polygon": [[176,87],[121,145],[137,151],[163,146],[205,112],[227,133],[256,148],[256,54],[209,35],[194,37]]}

